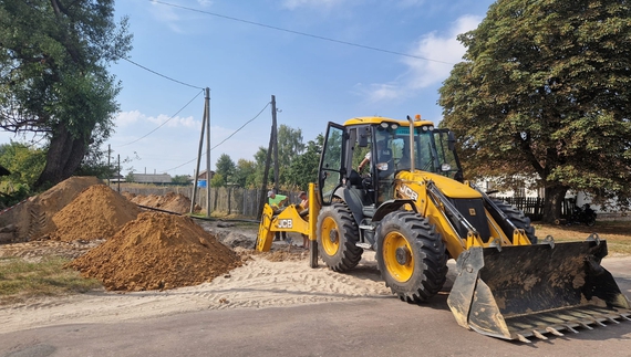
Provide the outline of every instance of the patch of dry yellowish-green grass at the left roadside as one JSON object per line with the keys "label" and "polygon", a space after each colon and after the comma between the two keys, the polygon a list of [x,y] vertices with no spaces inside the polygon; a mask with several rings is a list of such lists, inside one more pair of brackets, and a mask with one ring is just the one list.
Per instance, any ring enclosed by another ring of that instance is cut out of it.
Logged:
{"label": "patch of dry yellowish-green grass at the left roadside", "polygon": [[84,279],[77,271],[63,269],[69,261],[63,258],[48,258],[40,262],[0,259],[0,305],[31,297],[85,293],[102,286],[97,280]]}

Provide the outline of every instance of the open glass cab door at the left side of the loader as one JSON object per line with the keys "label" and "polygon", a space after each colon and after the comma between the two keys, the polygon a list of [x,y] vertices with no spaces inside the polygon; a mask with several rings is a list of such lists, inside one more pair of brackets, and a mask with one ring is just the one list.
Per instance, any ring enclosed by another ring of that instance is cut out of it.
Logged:
{"label": "open glass cab door at the left side of the loader", "polygon": [[342,185],[345,157],[346,129],[335,123],[329,122],[324,146],[320,156],[318,168],[318,185],[322,206],[331,204],[333,192]]}

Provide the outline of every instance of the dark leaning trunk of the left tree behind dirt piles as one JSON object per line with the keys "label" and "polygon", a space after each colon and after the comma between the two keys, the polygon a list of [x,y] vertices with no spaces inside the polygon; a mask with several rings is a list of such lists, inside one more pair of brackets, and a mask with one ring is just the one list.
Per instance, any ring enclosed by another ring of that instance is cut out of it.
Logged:
{"label": "dark leaning trunk of the left tree behind dirt piles", "polygon": [[86,151],[86,138],[82,135],[73,137],[64,124],[59,124],[51,137],[46,165],[35,181],[35,188],[56,185],[71,177],[81,165]]}

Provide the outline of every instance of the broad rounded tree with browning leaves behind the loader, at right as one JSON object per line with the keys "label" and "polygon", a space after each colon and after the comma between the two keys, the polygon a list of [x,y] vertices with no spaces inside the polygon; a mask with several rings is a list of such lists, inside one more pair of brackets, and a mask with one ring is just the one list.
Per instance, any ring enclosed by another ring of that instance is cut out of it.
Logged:
{"label": "broad rounded tree with browning leaves behind the loader, at right", "polygon": [[547,221],[569,189],[629,197],[629,2],[498,0],[458,40],[439,104],[469,179],[536,177]]}

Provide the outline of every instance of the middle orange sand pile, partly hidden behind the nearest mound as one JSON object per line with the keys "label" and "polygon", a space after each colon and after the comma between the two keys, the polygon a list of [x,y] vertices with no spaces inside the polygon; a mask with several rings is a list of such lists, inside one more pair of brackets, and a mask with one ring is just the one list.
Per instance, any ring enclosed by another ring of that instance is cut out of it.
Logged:
{"label": "middle orange sand pile, partly hidden behind the nearest mound", "polygon": [[54,214],[56,231],[51,238],[65,242],[108,239],[139,212],[137,206],[110,187],[94,185]]}

